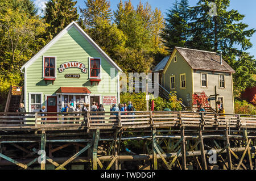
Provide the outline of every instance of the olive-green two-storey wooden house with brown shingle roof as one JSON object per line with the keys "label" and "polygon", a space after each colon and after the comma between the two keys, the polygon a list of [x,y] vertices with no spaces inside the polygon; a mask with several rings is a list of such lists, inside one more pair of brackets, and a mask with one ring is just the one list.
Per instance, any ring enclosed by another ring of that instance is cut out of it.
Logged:
{"label": "olive-green two-storey wooden house with brown shingle roof", "polygon": [[[234,113],[233,78],[235,71],[220,54],[204,50],[175,47],[171,56],[165,57],[153,72],[159,73],[160,84],[168,91],[176,91],[187,107],[192,105],[192,95],[205,92],[208,98],[217,87],[218,108]],[[215,100],[209,101],[215,109]]]}

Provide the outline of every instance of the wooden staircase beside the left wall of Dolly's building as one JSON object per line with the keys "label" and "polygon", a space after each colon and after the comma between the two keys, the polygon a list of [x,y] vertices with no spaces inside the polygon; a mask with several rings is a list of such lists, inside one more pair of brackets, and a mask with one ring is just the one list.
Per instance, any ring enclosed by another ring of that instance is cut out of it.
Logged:
{"label": "wooden staircase beside the left wall of Dolly's building", "polygon": [[5,112],[16,112],[19,103],[23,100],[23,89],[18,86],[11,86],[7,96]]}

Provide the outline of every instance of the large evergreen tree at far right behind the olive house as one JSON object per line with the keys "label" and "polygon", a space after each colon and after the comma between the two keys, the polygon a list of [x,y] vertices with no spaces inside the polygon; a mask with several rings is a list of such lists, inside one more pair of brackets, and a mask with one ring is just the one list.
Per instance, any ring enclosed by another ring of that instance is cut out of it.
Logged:
{"label": "large evergreen tree at far right behind the olive house", "polygon": [[[210,16],[210,3],[216,3],[217,16]],[[240,45],[241,50],[252,47],[250,37],[254,29],[246,30],[247,24],[241,21],[245,15],[237,10],[228,11],[229,0],[200,0],[197,6],[191,8],[191,36],[189,47],[196,49],[222,50],[224,54],[241,52],[234,45]]]}

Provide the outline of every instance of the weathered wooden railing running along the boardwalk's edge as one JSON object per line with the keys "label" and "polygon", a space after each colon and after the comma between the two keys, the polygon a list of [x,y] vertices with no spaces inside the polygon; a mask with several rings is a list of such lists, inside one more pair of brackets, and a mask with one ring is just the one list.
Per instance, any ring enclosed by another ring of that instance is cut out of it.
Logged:
{"label": "weathered wooden railing running along the boardwalk's edge", "polygon": [[256,115],[209,112],[0,112],[0,130],[116,129],[148,127],[207,127],[256,129]]}

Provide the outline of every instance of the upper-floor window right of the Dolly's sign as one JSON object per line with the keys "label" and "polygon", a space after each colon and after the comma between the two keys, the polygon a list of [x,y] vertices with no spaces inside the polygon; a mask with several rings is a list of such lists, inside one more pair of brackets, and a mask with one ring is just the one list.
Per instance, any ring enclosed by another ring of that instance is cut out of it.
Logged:
{"label": "upper-floor window right of the Dolly's sign", "polygon": [[89,78],[101,78],[101,58],[89,58]]}

